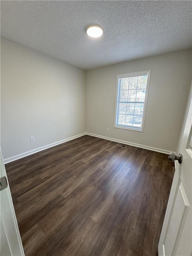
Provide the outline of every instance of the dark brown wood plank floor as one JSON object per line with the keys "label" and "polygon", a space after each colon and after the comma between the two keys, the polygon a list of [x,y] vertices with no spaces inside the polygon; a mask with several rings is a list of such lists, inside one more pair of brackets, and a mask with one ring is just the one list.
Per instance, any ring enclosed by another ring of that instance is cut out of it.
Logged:
{"label": "dark brown wood plank floor", "polygon": [[155,256],[168,155],[85,135],[6,164],[26,256]]}

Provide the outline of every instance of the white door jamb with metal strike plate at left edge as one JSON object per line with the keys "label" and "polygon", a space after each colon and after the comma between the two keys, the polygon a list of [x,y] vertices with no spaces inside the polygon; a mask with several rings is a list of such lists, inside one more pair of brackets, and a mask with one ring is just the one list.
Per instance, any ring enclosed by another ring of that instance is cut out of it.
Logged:
{"label": "white door jamb with metal strike plate at left edge", "polygon": [[[0,177],[6,177],[5,166],[0,149]],[[1,179],[1,188],[4,182]],[[9,184],[0,191],[0,255],[1,256],[24,256],[23,246],[15,211],[11,198]]]}

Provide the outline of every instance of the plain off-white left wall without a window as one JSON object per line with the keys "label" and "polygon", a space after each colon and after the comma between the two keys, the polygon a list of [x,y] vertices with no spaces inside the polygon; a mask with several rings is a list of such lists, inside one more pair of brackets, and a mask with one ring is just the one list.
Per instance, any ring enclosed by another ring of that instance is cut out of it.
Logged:
{"label": "plain off-white left wall without a window", "polygon": [[2,38],[3,158],[84,132],[84,70]]}

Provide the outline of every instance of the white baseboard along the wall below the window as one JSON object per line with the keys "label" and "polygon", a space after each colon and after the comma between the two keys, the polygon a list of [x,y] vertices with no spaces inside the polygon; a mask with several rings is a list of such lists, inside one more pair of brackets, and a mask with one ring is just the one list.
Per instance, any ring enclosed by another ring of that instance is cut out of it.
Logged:
{"label": "white baseboard along the wall below the window", "polygon": [[114,138],[109,138],[109,137],[105,137],[105,136],[102,136],[102,135],[93,134],[93,133],[89,133],[89,132],[87,132],[86,134],[90,135],[90,136],[98,137],[98,138],[101,138],[101,139],[111,140],[111,141],[115,141],[115,142],[118,142],[118,143],[123,143],[123,144],[126,144],[126,145],[138,147],[138,148],[149,149],[149,150],[164,153],[164,154],[169,154],[170,152],[172,152],[172,151],[164,150],[164,149],[161,149],[161,148],[154,148],[154,147],[145,146],[145,145],[141,145],[141,144],[137,144],[137,143],[133,143],[133,142],[129,142],[129,141],[117,140],[117,139],[114,139]]}

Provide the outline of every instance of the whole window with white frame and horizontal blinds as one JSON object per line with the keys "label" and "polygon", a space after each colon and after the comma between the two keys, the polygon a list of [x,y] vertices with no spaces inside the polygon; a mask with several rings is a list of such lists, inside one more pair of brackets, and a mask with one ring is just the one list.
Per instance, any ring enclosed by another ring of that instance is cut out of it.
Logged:
{"label": "whole window with white frame and horizontal blinds", "polygon": [[150,73],[117,76],[115,128],[143,132]]}

